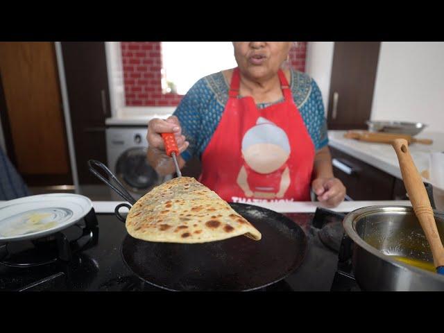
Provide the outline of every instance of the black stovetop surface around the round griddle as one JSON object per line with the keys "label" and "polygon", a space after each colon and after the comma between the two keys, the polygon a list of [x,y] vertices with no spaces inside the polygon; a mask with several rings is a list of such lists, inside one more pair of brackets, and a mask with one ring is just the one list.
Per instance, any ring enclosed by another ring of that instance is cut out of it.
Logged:
{"label": "black stovetop surface around the round griddle", "polygon": [[[307,255],[289,277],[260,290],[359,290],[348,269],[338,270],[338,253],[331,246],[325,246],[318,237],[325,223],[340,223],[341,216],[316,214],[315,221],[315,214],[287,216],[307,234]],[[92,231],[87,228],[87,232],[84,232],[92,234],[89,244],[71,255],[70,259],[69,255],[65,255],[62,259],[32,267],[0,264],[0,291],[162,291],[140,280],[123,262],[121,244],[127,235],[125,225],[114,214],[96,214],[96,221],[97,227],[94,226]],[[85,221],[80,223],[84,224]],[[81,229],[73,225],[64,233],[75,234],[78,232],[76,230]],[[5,245],[0,244],[0,248],[2,246],[4,248]],[[42,250],[39,251],[42,253]]]}

